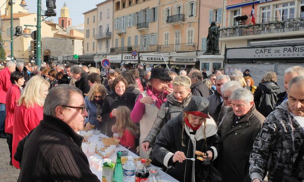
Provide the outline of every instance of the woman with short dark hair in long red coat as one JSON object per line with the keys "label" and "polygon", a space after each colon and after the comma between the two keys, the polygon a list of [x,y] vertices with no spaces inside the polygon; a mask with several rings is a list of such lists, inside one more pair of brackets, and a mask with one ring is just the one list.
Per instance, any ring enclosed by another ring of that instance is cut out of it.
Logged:
{"label": "woman with short dark hair in long red coat", "polygon": [[11,74],[12,87],[6,93],[6,118],[4,130],[7,134],[7,144],[10,150],[10,165],[12,165],[12,142],[13,142],[13,126],[14,126],[14,113],[16,108],[16,101],[19,100],[22,91],[22,85],[25,82],[24,75],[20,72]]}

